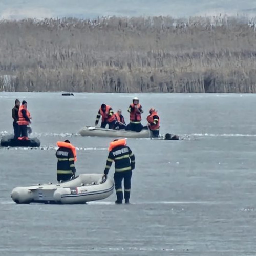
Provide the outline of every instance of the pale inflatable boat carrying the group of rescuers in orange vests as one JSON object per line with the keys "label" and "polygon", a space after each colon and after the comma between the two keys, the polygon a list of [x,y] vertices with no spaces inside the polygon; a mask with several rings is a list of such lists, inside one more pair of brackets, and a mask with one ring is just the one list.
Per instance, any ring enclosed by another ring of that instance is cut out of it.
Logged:
{"label": "pale inflatable boat carrying the group of rescuers in orange vests", "polygon": [[81,136],[98,136],[98,137],[119,137],[119,138],[150,138],[150,130],[143,129],[137,133],[134,131],[125,131],[124,129],[112,130],[98,127],[83,127],[79,134]]}

